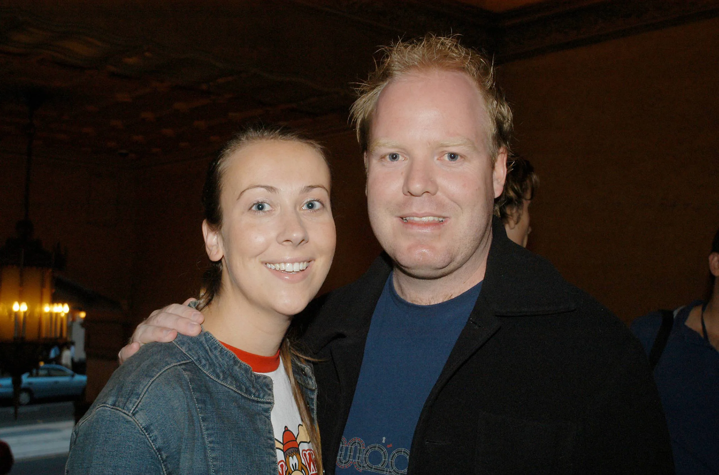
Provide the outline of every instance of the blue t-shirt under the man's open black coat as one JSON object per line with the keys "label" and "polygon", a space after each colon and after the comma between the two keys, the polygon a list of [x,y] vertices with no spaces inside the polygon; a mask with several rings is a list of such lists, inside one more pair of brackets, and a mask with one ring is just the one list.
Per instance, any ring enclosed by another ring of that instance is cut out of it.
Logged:
{"label": "blue t-shirt under the man's open black coat", "polygon": [[414,428],[482,282],[452,300],[415,305],[392,275],[377,301],[342,443],[337,474],[404,474]]}

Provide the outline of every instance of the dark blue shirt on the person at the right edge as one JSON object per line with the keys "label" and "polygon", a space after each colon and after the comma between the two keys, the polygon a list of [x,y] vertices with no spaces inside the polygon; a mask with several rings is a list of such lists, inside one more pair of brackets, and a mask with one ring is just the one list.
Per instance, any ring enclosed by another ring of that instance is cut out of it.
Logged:
{"label": "dark blue shirt on the person at the right edge", "polygon": [[[719,474],[719,351],[689,328],[695,300],[679,310],[654,380],[672,437],[677,475]],[[661,326],[661,313],[634,320],[631,330],[647,354]]]}

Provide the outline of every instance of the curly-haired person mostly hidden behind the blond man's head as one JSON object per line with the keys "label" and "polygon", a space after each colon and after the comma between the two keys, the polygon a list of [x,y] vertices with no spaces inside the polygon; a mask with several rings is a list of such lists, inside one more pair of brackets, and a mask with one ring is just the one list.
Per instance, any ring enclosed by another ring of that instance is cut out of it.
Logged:
{"label": "curly-haired person mostly hidden behind the blond man's head", "polygon": [[507,236],[526,247],[529,233],[529,203],[539,188],[539,177],[529,160],[513,157],[507,163],[507,178],[502,195],[495,203],[495,215],[502,218]]}

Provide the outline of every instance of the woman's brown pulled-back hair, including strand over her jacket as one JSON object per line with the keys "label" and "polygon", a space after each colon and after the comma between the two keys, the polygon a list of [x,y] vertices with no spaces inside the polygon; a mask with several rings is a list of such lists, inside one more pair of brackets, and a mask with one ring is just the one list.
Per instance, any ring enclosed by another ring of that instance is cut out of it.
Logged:
{"label": "woman's brown pulled-back hair, including strand over her jacket", "polygon": [[[327,157],[324,152],[324,147],[319,143],[303,137],[297,132],[291,132],[282,127],[268,127],[268,126],[248,126],[243,129],[242,132],[236,134],[232,139],[227,142],[217,157],[210,162],[207,168],[207,175],[205,177],[205,184],[202,188],[202,206],[204,209],[205,220],[214,229],[220,229],[222,226],[222,208],[220,207],[220,195],[222,192],[222,177],[224,170],[227,168],[227,162],[229,157],[234,155],[235,152],[240,149],[247,147],[250,144],[257,142],[299,142],[305,144],[308,147],[314,149],[324,160],[327,162]],[[329,165],[329,164],[328,164]],[[212,300],[219,295],[222,287],[222,261],[211,261],[210,267],[204,272],[203,275],[203,286],[200,292],[199,303],[197,305],[198,310],[205,308]],[[301,364],[310,364],[308,361],[313,359],[308,358],[300,354],[297,349],[293,346],[292,333],[293,328],[290,326],[290,330],[285,334],[285,338],[280,344],[280,358],[282,359],[285,367],[285,372],[290,379],[290,385],[292,387],[292,393],[297,404],[297,408],[300,412],[302,424],[307,429],[307,433],[312,443],[312,448],[316,455],[316,466],[317,473],[322,474],[322,451],[320,446],[320,435],[319,428],[317,426],[316,418],[313,414],[310,414],[309,407],[300,388],[300,384],[295,379],[292,371],[292,361],[298,361]]]}

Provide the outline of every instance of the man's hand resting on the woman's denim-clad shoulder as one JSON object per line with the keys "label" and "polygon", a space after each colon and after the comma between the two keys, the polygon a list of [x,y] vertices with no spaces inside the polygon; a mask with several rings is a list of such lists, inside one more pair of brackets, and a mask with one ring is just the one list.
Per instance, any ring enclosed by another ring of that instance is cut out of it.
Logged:
{"label": "man's hand resting on the woman's denim-clad shoulder", "polygon": [[129,343],[117,354],[119,363],[123,364],[127,361],[145,343],[173,341],[178,333],[187,336],[198,335],[205,317],[200,311],[187,306],[193,300],[197,299],[188,298],[182,305],[173,303],[150,313],[150,316],[135,328]]}

